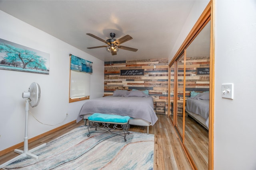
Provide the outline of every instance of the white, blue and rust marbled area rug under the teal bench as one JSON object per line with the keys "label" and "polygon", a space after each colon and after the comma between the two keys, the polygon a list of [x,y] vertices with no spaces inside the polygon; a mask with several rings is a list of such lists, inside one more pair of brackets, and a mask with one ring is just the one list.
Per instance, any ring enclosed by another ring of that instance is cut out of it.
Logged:
{"label": "white, blue and rust marbled area rug under the teal bench", "polygon": [[[91,132],[91,129],[90,129]],[[10,169],[51,170],[152,170],[154,135],[131,132],[124,137],[112,133],[91,133],[80,126],[47,143],[33,154],[4,167]]]}

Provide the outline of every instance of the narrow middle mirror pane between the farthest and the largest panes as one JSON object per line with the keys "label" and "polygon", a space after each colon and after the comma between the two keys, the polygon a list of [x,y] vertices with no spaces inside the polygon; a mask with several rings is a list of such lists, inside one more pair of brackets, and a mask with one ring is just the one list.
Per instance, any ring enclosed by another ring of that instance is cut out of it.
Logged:
{"label": "narrow middle mirror pane between the farthest and the largest panes", "polygon": [[183,95],[184,95],[184,55],[178,60],[178,84],[177,84],[177,127],[180,136],[183,136]]}

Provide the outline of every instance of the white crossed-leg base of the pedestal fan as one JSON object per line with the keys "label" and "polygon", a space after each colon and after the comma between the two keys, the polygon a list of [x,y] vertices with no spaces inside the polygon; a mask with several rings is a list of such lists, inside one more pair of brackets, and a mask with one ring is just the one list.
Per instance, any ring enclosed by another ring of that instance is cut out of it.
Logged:
{"label": "white crossed-leg base of the pedestal fan", "polygon": [[20,150],[20,149],[15,149],[14,152],[16,152],[16,153],[18,153],[18,154],[20,154],[20,155],[16,156],[15,158],[12,158],[11,160],[5,162],[5,163],[2,164],[2,165],[0,165],[0,168],[3,168],[4,166],[6,166],[6,165],[8,165],[8,164],[10,164],[10,163],[12,163],[12,162],[14,162],[14,161],[20,159],[20,158],[24,158],[24,157],[38,159],[38,156],[35,155],[35,154],[32,154],[31,152],[34,152],[35,150],[38,150],[38,149],[40,149],[41,147],[44,147],[45,145],[46,145],[46,143],[44,143],[44,144],[42,144],[42,145],[40,145],[40,146],[38,146],[38,147],[35,147],[35,148],[33,148],[33,149],[30,149],[30,150],[28,150],[27,152],[24,152],[23,150]]}

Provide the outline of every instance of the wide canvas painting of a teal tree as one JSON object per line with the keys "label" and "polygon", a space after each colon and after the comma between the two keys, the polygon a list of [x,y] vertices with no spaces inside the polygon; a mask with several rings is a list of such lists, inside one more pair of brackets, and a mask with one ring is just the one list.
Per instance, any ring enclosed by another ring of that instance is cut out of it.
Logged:
{"label": "wide canvas painting of a teal tree", "polygon": [[0,69],[49,74],[50,54],[0,39]]}

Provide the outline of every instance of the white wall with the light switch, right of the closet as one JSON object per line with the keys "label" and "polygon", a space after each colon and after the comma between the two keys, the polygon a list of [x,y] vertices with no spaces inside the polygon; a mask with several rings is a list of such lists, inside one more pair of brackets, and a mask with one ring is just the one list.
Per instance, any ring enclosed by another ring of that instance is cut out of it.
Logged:
{"label": "white wall with the light switch, right of the closet", "polygon": [[256,1],[217,0],[215,40],[214,169],[256,169]]}

